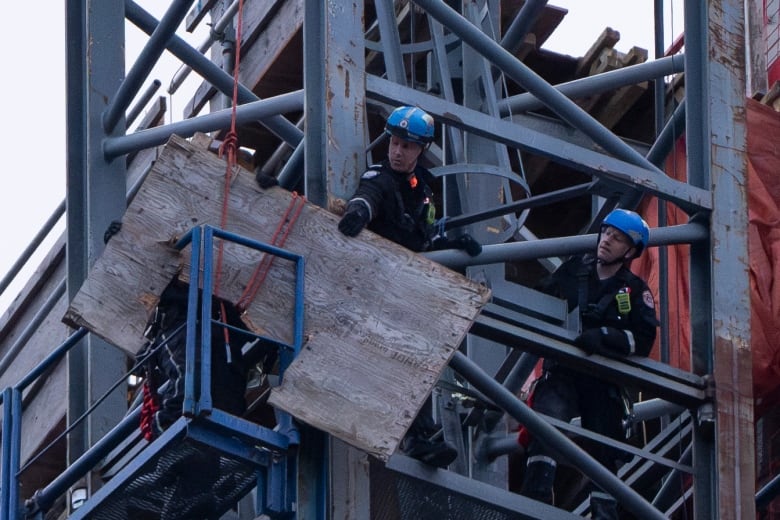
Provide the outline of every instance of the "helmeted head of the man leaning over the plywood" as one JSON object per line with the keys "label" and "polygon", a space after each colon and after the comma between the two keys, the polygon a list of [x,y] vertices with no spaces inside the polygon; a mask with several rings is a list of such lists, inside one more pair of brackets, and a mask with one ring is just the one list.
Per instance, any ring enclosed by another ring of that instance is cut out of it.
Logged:
{"label": "helmeted head of the man leaning over the plywood", "polygon": [[387,157],[395,171],[409,173],[417,166],[417,159],[433,141],[433,118],[417,107],[398,107],[385,124],[390,136]]}

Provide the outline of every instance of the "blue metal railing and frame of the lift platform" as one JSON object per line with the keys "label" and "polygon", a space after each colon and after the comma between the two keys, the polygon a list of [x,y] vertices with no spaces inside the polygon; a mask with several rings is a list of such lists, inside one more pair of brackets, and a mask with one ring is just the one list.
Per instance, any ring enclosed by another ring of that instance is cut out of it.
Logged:
{"label": "blue metal railing and frame of the lift platform", "polygon": [[[170,472],[184,457],[202,456],[204,453],[214,461],[215,480],[209,491],[214,497],[216,511],[227,511],[243,496],[257,490],[255,513],[270,518],[290,518],[294,515],[296,500],[295,457],[288,448],[299,442],[298,431],[292,418],[285,412],[275,411],[276,426],[265,426],[230,415],[212,407],[211,401],[211,325],[210,318],[213,295],[213,253],[215,239],[233,242],[273,255],[294,264],[294,324],[293,340],[284,343],[262,335],[251,334],[279,350],[279,380],[284,371],[300,352],[303,342],[303,295],[304,259],[289,251],[247,239],[208,225],[193,228],[182,237],[176,247],[179,250],[191,245],[191,272],[188,293],[186,327],[185,399],[183,414],[162,435],[143,448],[138,455],[119,470],[95,494],[76,509],[72,519],[114,519],[130,518],[133,497],[144,501],[143,507],[159,509],[170,503],[170,493],[165,495],[164,486],[155,479],[170,479]],[[201,279],[202,290],[197,281]],[[199,298],[201,291],[202,298]],[[201,305],[198,305],[200,299]],[[209,319],[198,320],[200,316]],[[201,327],[200,342],[197,344],[196,327]],[[228,327],[219,323],[219,326]],[[247,331],[242,331],[247,333]],[[22,425],[22,392],[41,375],[58,363],[65,354],[78,345],[88,334],[86,329],[73,333],[57,347],[43,362],[25,376],[17,385],[0,394],[3,405],[2,466],[0,466],[0,520],[21,518],[43,519],[55,501],[74,486],[89,471],[92,471],[112,450],[125,442],[133,433],[138,433],[140,407],[132,409],[123,420],[105,437],[96,442],[84,455],[47,486],[35,492],[34,496],[21,503],[19,477]],[[200,360],[197,362],[196,360]],[[133,367],[131,372],[137,367]],[[196,368],[199,368],[196,373]],[[129,375],[129,373],[128,373]],[[125,378],[126,379],[126,378]],[[123,384],[125,379],[109,389],[108,393]],[[107,394],[108,394],[107,393]],[[107,395],[106,394],[106,395]],[[89,414],[100,403],[92,405]],[[78,421],[84,419],[79,418]],[[70,426],[69,428],[72,428]],[[62,436],[66,435],[66,430]],[[55,439],[56,442],[56,439]],[[51,446],[51,444],[50,444]],[[44,448],[48,449],[48,448]],[[38,455],[39,456],[39,455]],[[202,460],[202,459],[201,459]],[[162,468],[162,469],[160,469]],[[186,477],[182,477],[186,478]],[[219,487],[221,486],[221,487]],[[128,498],[129,497],[129,498]],[[182,500],[182,504],[186,501]],[[143,511],[143,507],[141,510]],[[186,518],[189,513],[177,512],[173,506],[166,518]],[[147,509],[148,511],[148,509]]]}

